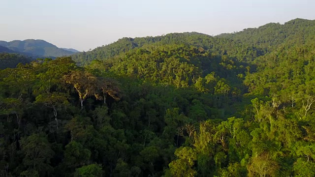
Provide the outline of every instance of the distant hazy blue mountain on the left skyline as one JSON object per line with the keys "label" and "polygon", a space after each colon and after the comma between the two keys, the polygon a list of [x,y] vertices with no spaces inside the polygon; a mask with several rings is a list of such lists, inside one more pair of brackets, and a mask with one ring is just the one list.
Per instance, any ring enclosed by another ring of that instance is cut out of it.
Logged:
{"label": "distant hazy blue mountain on the left skyline", "polygon": [[12,50],[14,53],[25,54],[32,57],[62,57],[69,56],[76,52],[71,52],[58,48],[57,46],[44,40],[14,40],[11,42],[0,41],[0,46]]}

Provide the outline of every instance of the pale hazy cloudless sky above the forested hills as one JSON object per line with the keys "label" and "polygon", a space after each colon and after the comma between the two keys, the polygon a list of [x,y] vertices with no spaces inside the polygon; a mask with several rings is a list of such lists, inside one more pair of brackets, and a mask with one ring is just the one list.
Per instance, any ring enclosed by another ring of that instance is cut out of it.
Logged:
{"label": "pale hazy cloudless sky above the forested hills", "polygon": [[0,0],[0,40],[94,49],[122,37],[240,31],[315,19],[315,0]]}

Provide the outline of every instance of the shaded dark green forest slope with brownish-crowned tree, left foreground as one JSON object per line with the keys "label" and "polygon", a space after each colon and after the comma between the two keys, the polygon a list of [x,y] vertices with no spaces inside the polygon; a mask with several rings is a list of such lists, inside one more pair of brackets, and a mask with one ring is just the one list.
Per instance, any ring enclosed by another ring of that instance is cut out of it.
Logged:
{"label": "shaded dark green forest slope with brownish-crowned tree, left foreground", "polygon": [[70,58],[0,72],[4,176],[162,176],[184,143],[182,126],[230,114],[216,94]]}

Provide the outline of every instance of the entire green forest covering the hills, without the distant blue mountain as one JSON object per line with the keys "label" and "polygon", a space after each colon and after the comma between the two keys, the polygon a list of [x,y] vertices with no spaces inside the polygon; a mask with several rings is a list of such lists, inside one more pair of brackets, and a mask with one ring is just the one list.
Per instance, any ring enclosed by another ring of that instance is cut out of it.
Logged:
{"label": "entire green forest covering the hills, without the distant blue mountain", "polygon": [[314,23],[0,68],[0,176],[315,177]]}

